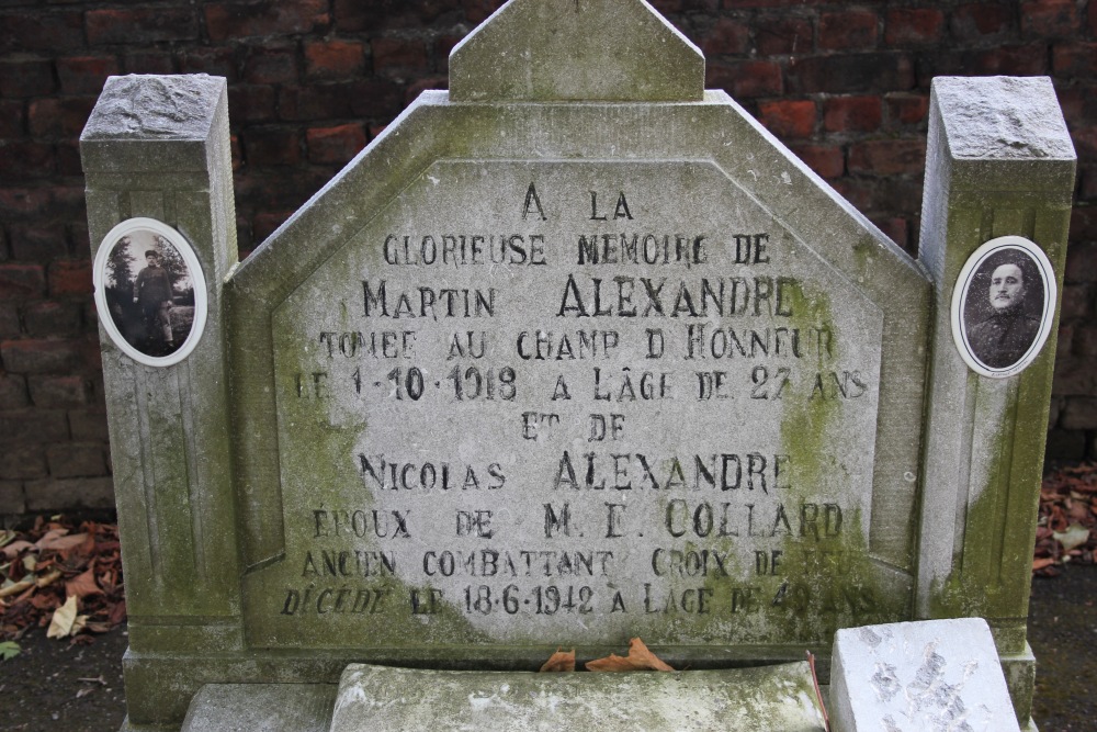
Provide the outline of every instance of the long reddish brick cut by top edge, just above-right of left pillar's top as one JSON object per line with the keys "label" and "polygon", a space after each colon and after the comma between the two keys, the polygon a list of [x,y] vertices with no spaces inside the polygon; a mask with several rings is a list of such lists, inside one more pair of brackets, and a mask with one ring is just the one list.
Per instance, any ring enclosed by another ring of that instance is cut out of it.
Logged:
{"label": "long reddish brick cut by top edge, just above-right of left pillar's top", "polygon": [[216,2],[205,7],[206,30],[213,41],[316,33],[330,23],[327,11],[328,0]]}

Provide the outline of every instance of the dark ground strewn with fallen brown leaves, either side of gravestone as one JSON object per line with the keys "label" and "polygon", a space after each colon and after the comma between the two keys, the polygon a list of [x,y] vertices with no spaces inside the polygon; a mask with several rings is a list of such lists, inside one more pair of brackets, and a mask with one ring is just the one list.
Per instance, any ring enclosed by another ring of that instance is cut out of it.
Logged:
{"label": "dark ground strewn with fallen brown leaves, either side of gravestone", "polygon": [[[1097,730],[1097,567],[1036,578],[1029,641],[1039,662],[1034,717],[1040,732]],[[120,627],[90,645],[36,630],[0,662],[0,730],[117,732],[125,716]]]}

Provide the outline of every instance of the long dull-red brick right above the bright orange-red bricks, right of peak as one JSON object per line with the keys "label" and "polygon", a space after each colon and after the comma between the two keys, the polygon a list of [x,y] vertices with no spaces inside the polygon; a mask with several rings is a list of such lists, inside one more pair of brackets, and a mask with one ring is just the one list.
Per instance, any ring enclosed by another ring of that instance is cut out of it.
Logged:
{"label": "long dull-red brick right above the bright orange-red bricks, right of peak", "polygon": [[914,87],[914,68],[904,54],[841,54],[794,58],[785,87],[790,93],[857,93]]}

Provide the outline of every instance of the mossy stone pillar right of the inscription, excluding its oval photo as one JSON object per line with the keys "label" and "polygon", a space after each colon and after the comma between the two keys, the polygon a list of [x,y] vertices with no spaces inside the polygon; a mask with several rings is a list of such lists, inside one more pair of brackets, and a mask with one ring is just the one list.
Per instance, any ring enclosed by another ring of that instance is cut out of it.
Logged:
{"label": "mossy stone pillar right of the inscription, excluding its oval photo", "polygon": [[936,320],[917,615],[987,619],[1022,724],[1034,674],[1026,626],[1058,302],[1039,356],[1000,379],[964,362],[951,309],[969,258],[1002,236],[1036,243],[1062,291],[1075,164],[1049,79],[934,80],[920,260],[934,282]]}

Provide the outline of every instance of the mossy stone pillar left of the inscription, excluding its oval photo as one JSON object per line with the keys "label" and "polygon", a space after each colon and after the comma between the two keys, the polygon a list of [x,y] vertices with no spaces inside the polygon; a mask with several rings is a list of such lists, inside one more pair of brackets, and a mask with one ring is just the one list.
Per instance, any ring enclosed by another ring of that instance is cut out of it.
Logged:
{"label": "mossy stone pillar left of the inscription, excluding its oval photo", "polygon": [[201,340],[173,365],[137,362],[100,323],[129,611],[128,687],[143,654],[241,645],[223,342],[222,288],[237,262],[226,82],[112,77],[80,151],[93,249],[120,222],[158,219],[194,250],[208,302]]}

